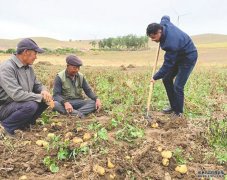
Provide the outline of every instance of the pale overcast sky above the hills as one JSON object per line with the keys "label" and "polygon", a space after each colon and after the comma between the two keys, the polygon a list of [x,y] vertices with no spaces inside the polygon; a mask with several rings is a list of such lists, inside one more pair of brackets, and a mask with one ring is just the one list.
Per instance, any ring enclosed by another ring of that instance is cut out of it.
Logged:
{"label": "pale overcast sky above the hills", "polygon": [[163,15],[189,35],[227,34],[227,0],[0,0],[0,38],[145,35]]}

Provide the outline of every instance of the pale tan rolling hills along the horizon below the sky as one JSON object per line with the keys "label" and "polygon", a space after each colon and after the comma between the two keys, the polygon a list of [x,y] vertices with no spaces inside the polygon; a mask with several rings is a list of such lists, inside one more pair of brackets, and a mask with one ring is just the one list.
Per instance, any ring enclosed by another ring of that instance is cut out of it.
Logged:
{"label": "pale tan rolling hills along the horizon below the sky", "polygon": [[[88,50],[92,48],[90,42],[92,40],[75,40],[60,41],[48,37],[31,37],[42,48],[76,48],[79,50]],[[192,36],[193,41],[198,47],[227,47],[227,35],[221,34],[201,34]],[[16,48],[16,44],[20,39],[0,39],[0,50]]]}

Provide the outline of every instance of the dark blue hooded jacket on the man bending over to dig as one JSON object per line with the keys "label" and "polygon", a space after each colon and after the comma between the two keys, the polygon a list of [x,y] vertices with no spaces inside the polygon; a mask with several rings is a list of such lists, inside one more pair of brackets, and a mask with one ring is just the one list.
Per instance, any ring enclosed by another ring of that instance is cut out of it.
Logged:
{"label": "dark blue hooded jacket on the man bending over to dig", "polygon": [[170,22],[169,16],[163,16],[160,23],[163,27],[160,47],[166,51],[164,63],[153,79],[163,78],[178,63],[195,64],[197,49],[191,38]]}

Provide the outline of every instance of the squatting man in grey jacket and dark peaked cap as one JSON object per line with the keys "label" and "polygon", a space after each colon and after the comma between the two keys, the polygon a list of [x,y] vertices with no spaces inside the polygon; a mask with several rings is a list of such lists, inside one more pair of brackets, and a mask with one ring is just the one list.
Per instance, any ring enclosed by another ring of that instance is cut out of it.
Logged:
{"label": "squatting man in grey jacket and dark peaked cap", "polygon": [[0,66],[0,121],[4,133],[13,135],[16,129],[34,125],[47,108],[45,102],[52,100],[31,66],[37,53],[43,52],[26,38],[18,43],[16,54]]}

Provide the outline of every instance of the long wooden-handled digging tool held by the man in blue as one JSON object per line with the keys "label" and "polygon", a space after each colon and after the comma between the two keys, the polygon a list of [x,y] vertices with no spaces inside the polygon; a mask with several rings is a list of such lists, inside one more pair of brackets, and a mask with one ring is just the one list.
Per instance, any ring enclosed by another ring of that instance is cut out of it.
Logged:
{"label": "long wooden-handled digging tool held by the man in blue", "polygon": [[[151,77],[154,76],[154,73],[155,73],[156,68],[157,68],[159,52],[160,52],[160,44],[158,44],[158,48],[157,48],[157,52],[156,52],[156,57],[155,57],[155,62],[154,62],[154,66],[153,66],[153,71],[152,71]],[[152,118],[149,115],[149,111],[150,111],[151,96],[152,96],[153,88],[154,88],[154,83],[153,82],[150,82],[149,95],[148,95],[148,98],[147,98],[147,112],[146,112],[146,116],[145,116],[145,119],[148,122],[151,122],[152,121]]]}

